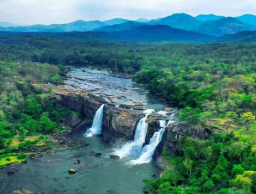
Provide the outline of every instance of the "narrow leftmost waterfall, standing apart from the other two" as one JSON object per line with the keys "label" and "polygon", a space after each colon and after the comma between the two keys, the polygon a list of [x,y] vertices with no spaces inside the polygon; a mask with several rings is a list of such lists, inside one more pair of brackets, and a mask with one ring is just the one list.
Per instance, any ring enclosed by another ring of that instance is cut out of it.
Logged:
{"label": "narrow leftmost waterfall, standing apart from the other two", "polygon": [[102,104],[100,108],[96,111],[96,114],[93,117],[92,127],[87,130],[84,134],[87,137],[91,137],[93,135],[99,135],[102,133],[102,118],[103,118],[103,108],[105,104]]}

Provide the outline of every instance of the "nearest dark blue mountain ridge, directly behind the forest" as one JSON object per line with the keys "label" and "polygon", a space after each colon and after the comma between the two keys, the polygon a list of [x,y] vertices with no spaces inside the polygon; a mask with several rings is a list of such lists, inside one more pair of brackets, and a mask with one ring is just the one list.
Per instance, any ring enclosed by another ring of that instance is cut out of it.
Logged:
{"label": "nearest dark blue mountain ridge, directly behind the forest", "polygon": [[[119,28],[120,26],[126,26],[128,22],[123,24],[116,24],[112,27]],[[256,43],[256,31],[243,31],[235,34],[228,34],[224,36],[211,36],[194,31],[182,30],[178,28],[172,28],[166,25],[149,25],[140,24],[140,22],[129,22],[136,26],[126,30],[109,30],[106,27],[105,32],[5,32],[0,31],[1,43],[17,43],[23,42],[26,38],[32,36],[46,36],[55,37],[62,40],[70,41],[98,41],[98,40],[112,40],[112,41],[134,41],[134,42],[229,42],[234,44],[251,44]],[[99,28],[100,29],[100,28]],[[10,37],[7,38],[7,37]]]}

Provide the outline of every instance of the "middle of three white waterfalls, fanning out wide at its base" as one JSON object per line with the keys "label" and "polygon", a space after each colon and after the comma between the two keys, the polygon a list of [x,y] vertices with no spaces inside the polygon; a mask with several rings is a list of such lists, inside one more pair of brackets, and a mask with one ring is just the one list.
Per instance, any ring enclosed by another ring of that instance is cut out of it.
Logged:
{"label": "middle of three white waterfalls, fanning out wide at its base", "polygon": [[144,118],[141,118],[138,122],[134,140],[126,142],[125,145],[121,149],[115,151],[115,155],[118,155],[120,158],[123,157],[131,157],[131,158],[138,158],[142,151],[142,146],[145,143],[146,134],[147,134],[147,127],[148,124],[146,123],[146,119],[148,114],[145,115]]}

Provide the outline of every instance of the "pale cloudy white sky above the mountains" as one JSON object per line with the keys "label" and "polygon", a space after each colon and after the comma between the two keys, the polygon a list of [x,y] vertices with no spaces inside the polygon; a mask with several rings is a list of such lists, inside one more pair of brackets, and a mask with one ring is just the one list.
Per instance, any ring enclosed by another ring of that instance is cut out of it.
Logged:
{"label": "pale cloudy white sky above the mountains", "polygon": [[175,13],[256,15],[256,0],[0,0],[0,10],[0,21],[52,24],[115,17],[153,19]]}

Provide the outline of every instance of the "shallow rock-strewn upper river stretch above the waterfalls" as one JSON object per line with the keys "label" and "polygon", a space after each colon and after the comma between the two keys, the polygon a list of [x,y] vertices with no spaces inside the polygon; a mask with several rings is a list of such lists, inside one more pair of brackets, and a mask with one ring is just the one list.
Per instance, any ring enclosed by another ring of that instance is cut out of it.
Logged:
{"label": "shallow rock-strewn upper river stretch above the waterfalls", "polygon": [[157,110],[176,107],[176,104],[152,95],[144,86],[132,82],[132,79],[123,78],[122,74],[91,68],[70,68],[67,76],[65,83],[68,89],[86,90],[116,105],[143,105]]}

